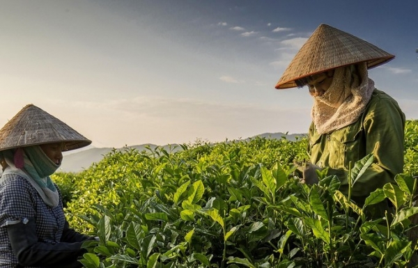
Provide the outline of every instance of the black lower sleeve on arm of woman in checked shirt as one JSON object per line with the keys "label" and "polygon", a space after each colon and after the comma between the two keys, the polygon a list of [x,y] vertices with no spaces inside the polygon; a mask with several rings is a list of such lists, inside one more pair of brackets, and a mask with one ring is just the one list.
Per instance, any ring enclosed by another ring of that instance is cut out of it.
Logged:
{"label": "black lower sleeve on arm of woman in checked shirt", "polygon": [[36,267],[82,267],[77,258],[85,251],[82,242],[59,242],[49,244],[39,242],[36,235],[36,222],[33,219],[20,221],[7,226],[10,244],[23,266]]}

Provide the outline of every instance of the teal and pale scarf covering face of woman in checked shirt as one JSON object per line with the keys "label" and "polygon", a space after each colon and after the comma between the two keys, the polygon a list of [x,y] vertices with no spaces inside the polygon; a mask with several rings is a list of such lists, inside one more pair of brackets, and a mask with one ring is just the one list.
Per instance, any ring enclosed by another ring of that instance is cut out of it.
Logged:
{"label": "teal and pale scarf covering face of woman in checked shirt", "polygon": [[49,175],[52,175],[61,165],[49,159],[39,145],[17,148],[15,152],[6,150],[3,156],[8,164],[3,175],[17,173],[32,184],[49,207],[58,205],[59,194]]}

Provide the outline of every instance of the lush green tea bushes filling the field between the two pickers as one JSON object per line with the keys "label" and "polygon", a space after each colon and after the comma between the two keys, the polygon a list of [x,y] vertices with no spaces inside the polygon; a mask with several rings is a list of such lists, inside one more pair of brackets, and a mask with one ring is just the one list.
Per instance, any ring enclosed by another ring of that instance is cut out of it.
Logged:
{"label": "lush green tea bushes filling the field between the two pickers", "polygon": [[[305,137],[113,150],[54,181],[70,189],[70,225],[100,237],[85,245],[85,267],[406,267],[417,250],[405,235],[418,212],[416,129],[409,120],[406,172],[363,207],[325,172],[318,185],[300,183],[293,162],[308,158]],[[352,184],[372,161],[355,164]],[[391,215],[366,217],[387,200]]]}

